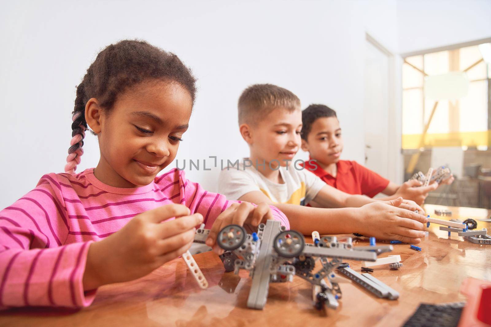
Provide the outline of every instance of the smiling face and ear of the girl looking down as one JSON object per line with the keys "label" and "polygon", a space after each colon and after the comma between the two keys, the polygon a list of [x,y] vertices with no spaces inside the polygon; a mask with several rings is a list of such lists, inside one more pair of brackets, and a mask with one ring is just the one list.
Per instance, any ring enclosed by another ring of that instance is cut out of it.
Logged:
{"label": "smiling face and ear of the girl looking down", "polygon": [[175,82],[149,80],[122,93],[108,113],[89,101],[87,124],[99,136],[94,175],[116,187],[150,184],[174,160],[191,117],[191,94]]}

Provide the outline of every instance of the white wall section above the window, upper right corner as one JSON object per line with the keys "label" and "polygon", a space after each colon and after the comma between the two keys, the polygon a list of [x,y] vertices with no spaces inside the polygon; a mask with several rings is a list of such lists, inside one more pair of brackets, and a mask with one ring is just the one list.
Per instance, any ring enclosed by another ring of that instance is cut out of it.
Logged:
{"label": "white wall section above the window, upper right corner", "polygon": [[399,52],[491,37],[490,0],[397,0]]}

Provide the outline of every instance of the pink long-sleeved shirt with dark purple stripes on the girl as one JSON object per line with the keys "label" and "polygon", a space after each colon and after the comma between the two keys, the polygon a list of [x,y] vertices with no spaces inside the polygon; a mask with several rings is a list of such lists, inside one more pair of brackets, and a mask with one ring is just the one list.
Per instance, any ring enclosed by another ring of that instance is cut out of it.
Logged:
{"label": "pink long-sleeved shirt with dark purple stripes on the girl", "polygon": [[[78,175],[45,175],[35,189],[0,211],[0,307],[90,305],[95,290],[84,292],[82,277],[91,242],[139,213],[170,203],[201,213],[210,228],[233,202],[175,168],[138,188],[106,185],[93,168]],[[290,228],[285,215],[271,208],[274,219]]]}

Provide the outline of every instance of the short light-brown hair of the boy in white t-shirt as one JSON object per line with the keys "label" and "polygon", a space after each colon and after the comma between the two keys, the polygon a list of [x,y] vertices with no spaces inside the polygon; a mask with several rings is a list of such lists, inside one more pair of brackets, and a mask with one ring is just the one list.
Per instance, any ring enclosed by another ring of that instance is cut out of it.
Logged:
{"label": "short light-brown hair of the boy in white t-shirt", "polygon": [[300,99],[282,87],[273,84],[254,84],[239,98],[239,125],[256,124],[277,108],[292,112],[300,109]]}

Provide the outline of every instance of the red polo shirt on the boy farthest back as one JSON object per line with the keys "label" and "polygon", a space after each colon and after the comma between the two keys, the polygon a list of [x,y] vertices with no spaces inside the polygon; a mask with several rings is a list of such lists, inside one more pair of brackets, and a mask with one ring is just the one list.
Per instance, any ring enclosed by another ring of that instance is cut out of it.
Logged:
{"label": "red polo shirt on the boy farthest back", "polygon": [[373,198],[382,192],[390,182],[356,161],[339,160],[336,164],[336,177],[327,173],[319,164],[315,165],[312,165],[309,160],[305,162],[305,169],[321,177],[330,186],[348,194],[363,194]]}

